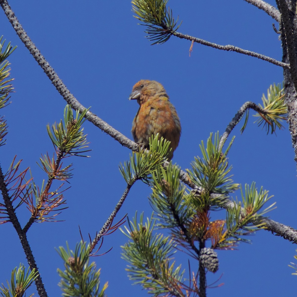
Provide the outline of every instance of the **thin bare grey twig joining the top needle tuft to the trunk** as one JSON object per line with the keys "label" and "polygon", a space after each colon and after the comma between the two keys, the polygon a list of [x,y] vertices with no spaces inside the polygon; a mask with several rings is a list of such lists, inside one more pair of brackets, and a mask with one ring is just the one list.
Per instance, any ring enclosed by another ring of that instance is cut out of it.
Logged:
{"label": "thin bare grey twig joining the top needle tuft to the trunk", "polygon": [[191,40],[191,41],[194,41],[194,42],[206,45],[206,46],[210,46],[212,48],[217,48],[218,50],[227,50],[227,51],[233,51],[233,52],[236,52],[236,53],[241,53],[241,54],[244,54],[244,55],[248,55],[248,56],[252,56],[252,57],[261,59],[263,61],[267,61],[267,62],[272,63],[272,64],[277,65],[277,66],[290,68],[290,65],[287,64],[287,63],[277,61],[277,60],[275,60],[273,58],[270,58],[268,56],[264,56],[264,55],[259,54],[259,53],[252,52],[250,50],[244,50],[243,48],[238,48],[237,46],[234,46],[234,45],[220,45],[220,44],[209,42],[209,41],[206,41],[206,40],[203,40],[203,39],[200,39],[200,38],[192,37],[190,35],[182,34],[182,33],[176,32],[176,31],[172,31],[165,24],[163,26],[163,29],[168,30],[168,32],[171,33],[172,35],[174,35],[176,37],[179,37],[179,38],[182,38],[182,39]]}

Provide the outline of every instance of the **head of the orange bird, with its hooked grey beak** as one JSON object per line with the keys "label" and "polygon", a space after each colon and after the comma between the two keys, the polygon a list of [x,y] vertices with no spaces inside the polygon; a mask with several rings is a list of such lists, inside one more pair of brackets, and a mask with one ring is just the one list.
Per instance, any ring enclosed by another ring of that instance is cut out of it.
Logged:
{"label": "head of the orange bird, with its hooked grey beak", "polygon": [[168,95],[164,87],[155,80],[140,80],[135,83],[132,89],[132,93],[129,96],[129,100],[136,99],[138,104],[141,105],[145,103],[149,98],[154,98],[157,96]]}

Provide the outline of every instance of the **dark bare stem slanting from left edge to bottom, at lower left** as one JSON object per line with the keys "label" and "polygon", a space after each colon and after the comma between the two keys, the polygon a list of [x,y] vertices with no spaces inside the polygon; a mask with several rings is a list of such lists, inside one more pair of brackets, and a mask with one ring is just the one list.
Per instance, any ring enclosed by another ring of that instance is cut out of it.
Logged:
{"label": "dark bare stem slanting from left edge to bottom, at lower left", "polygon": [[[30,269],[33,270],[35,269],[35,271],[39,271],[34,259],[34,256],[32,254],[32,250],[31,247],[29,245],[26,233],[23,232],[21,226],[20,226],[20,222],[18,221],[18,218],[15,214],[15,209],[12,206],[12,202],[10,200],[10,197],[8,195],[8,190],[4,181],[4,175],[2,172],[2,169],[0,167],[0,190],[2,192],[2,196],[3,196],[3,200],[5,203],[5,207],[7,209],[7,214],[9,217],[10,222],[12,223],[13,227],[15,228],[15,231],[18,233],[18,236],[20,238],[20,242],[22,244],[23,250],[25,252],[26,258],[28,260]],[[42,283],[42,279],[40,274],[38,273],[37,278],[35,279],[35,284],[36,284],[36,288],[38,291],[38,295],[40,297],[47,297],[48,294],[45,291],[45,287]]]}

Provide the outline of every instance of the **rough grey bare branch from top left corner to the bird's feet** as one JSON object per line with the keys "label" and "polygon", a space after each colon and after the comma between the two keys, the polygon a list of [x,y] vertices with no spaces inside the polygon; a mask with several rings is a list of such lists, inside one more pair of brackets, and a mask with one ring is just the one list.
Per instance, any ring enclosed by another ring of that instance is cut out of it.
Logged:
{"label": "rough grey bare branch from top left corner to the bird's feet", "polygon": [[[40,67],[44,70],[45,74],[48,76],[50,81],[56,87],[57,91],[61,94],[61,96],[66,100],[66,102],[71,105],[71,107],[75,110],[78,110],[82,113],[86,108],[78,102],[78,100],[70,93],[67,87],[64,85],[62,80],[59,78],[54,69],[50,66],[48,61],[45,60],[44,56],[40,53],[40,51],[36,48],[34,43],[31,41],[27,33],[24,31],[22,25],[19,23],[16,18],[14,12],[11,10],[11,7],[7,3],[7,0],[0,0],[0,5],[3,8],[5,15],[9,19],[16,33],[20,37],[20,40],[24,43],[26,48],[30,51],[31,55],[40,65]],[[95,126],[103,130],[105,133],[113,137],[123,146],[126,146],[129,149],[136,150],[136,143],[127,138],[125,135],[121,134],[119,131],[111,127],[105,121],[100,119],[94,113],[88,111],[86,113],[86,117],[88,117],[88,121],[93,123]]]}

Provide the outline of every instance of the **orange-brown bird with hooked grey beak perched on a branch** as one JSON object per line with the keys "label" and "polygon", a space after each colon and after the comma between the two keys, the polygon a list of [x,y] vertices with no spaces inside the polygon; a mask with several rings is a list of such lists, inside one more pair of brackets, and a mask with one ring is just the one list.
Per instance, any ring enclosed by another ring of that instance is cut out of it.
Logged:
{"label": "orange-brown bird with hooked grey beak perched on a branch", "polygon": [[140,105],[132,123],[134,141],[149,149],[149,138],[159,133],[171,141],[168,152],[171,160],[181,136],[181,123],[164,87],[155,80],[140,80],[133,86],[131,99]]}

